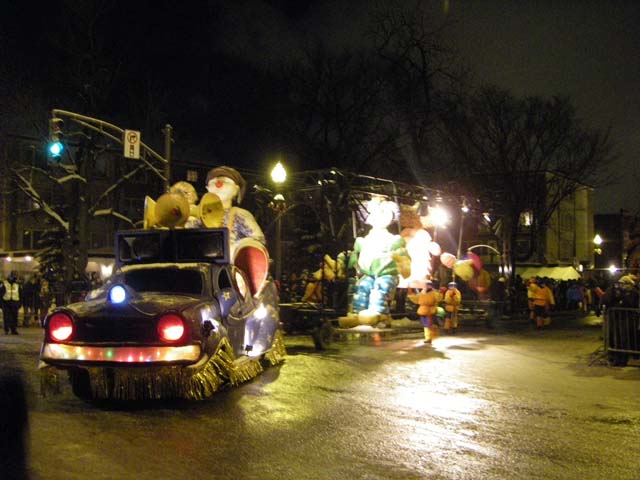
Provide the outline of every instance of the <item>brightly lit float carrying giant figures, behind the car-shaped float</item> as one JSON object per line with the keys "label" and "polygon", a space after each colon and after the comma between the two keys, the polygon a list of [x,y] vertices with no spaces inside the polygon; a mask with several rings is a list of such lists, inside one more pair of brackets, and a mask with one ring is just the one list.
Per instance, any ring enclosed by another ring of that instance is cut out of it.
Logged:
{"label": "brightly lit float carrying giant figures, behind the car-shaped float", "polygon": [[[335,168],[293,174],[288,183],[282,241],[296,255],[283,269],[281,319],[285,331],[311,333],[317,348],[342,330],[417,319],[407,295],[427,280],[446,287],[454,278],[460,216],[478,214],[471,199]],[[453,225],[442,222],[443,211]]]}

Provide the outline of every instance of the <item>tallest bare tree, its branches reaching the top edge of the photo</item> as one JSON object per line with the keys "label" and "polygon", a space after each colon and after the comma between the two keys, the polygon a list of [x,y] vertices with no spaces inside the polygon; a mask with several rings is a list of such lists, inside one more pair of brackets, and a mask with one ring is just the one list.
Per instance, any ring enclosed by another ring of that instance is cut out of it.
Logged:
{"label": "tallest bare tree, its branches reaching the top edge of the photo", "polygon": [[445,101],[465,88],[467,75],[445,34],[448,17],[436,19],[421,3],[385,2],[374,10],[369,38],[385,72],[387,108],[399,130],[411,176],[438,183],[441,159],[437,126]]}

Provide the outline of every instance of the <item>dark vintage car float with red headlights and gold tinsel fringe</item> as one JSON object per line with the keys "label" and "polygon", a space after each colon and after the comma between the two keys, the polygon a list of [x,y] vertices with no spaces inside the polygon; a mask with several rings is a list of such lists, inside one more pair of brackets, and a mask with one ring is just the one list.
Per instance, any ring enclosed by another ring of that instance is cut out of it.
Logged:
{"label": "dark vintage car float with red headlights and gold tinsel fringe", "polygon": [[44,320],[43,392],[99,400],[203,399],[286,354],[260,245],[229,259],[226,229],[116,235],[114,276]]}

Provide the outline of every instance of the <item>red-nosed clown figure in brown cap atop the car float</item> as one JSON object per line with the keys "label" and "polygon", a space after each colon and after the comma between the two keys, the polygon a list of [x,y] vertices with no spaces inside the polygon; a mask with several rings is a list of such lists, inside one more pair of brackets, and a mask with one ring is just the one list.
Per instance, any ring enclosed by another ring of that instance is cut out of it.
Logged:
{"label": "red-nosed clown figure in brown cap atop the car float", "polygon": [[229,229],[229,246],[231,258],[238,241],[243,238],[253,238],[265,245],[264,233],[256,222],[253,214],[248,210],[233,206],[242,201],[246,182],[240,173],[231,167],[215,167],[207,174],[207,191],[220,198],[224,209],[222,226]]}

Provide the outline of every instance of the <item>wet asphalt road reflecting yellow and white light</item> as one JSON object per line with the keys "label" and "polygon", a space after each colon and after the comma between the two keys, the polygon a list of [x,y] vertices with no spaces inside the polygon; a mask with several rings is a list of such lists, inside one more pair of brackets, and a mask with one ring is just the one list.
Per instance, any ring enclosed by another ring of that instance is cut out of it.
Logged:
{"label": "wet asphalt road reflecting yellow and white light", "polygon": [[288,336],[285,363],[239,388],[127,407],[68,387],[42,398],[39,340],[0,337],[3,377],[26,390],[25,478],[640,478],[640,366],[607,366],[593,326],[463,327],[432,348],[419,332],[349,336],[323,352]]}

